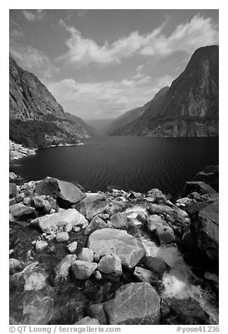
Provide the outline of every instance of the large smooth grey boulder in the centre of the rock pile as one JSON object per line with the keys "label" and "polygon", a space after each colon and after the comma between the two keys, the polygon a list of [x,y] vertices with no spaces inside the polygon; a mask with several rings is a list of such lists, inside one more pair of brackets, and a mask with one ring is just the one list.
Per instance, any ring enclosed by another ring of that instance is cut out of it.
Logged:
{"label": "large smooth grey boulder in the centre of the rock pile", "polygon": [[99,229],[88,239],[88,248],[102,255],[116,254],[121,264],[128,269],[134,268],[145,256],[145,248],[134,236],[122,229]]}

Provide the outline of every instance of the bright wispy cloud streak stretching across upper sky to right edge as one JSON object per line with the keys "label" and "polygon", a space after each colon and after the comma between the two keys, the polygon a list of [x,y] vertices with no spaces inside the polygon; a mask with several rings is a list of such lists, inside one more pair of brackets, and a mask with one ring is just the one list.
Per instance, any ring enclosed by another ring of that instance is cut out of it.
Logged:
{"label": "bright wispy cloud streak stretching across upper sky to right edge", "polygon": [[166,22],[149,34],[131,32],[112,44],[106,41],[99,46],[96,41],[83,37],[75,27],[69,27],[60,20],[59,23],[70,37],[65,42],[69,50],[57,60],[67,60],[79,66],[90,63],[120,64],[122,59],[135,54],[166,56],[177,51],[192,53],[200,46],[218,43],[218,27],[211,18],[196,15],[190,22],[178,25],[169,36],[162,34]]}

